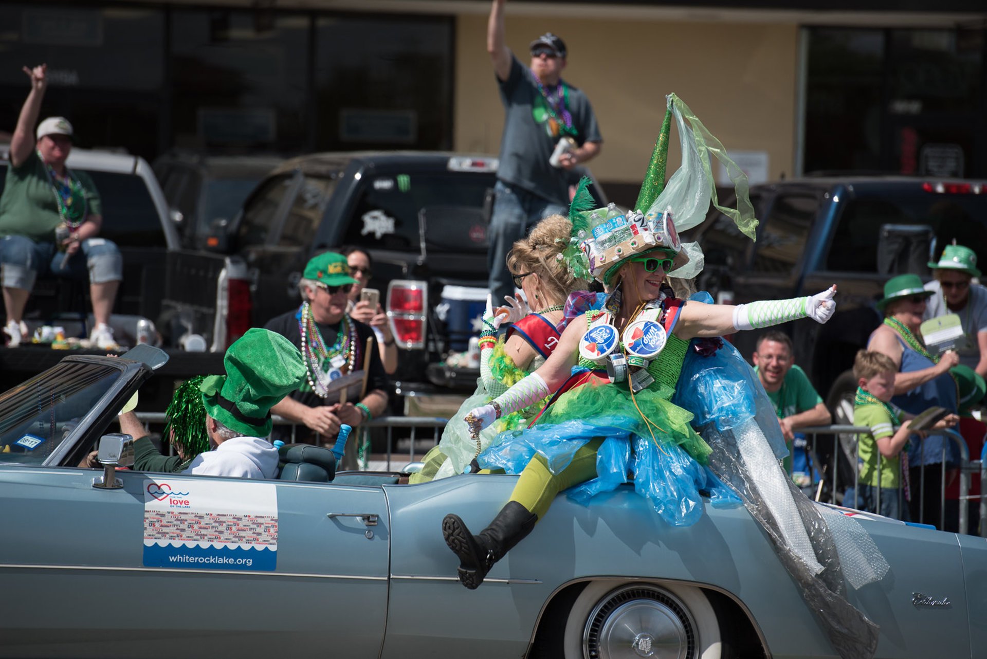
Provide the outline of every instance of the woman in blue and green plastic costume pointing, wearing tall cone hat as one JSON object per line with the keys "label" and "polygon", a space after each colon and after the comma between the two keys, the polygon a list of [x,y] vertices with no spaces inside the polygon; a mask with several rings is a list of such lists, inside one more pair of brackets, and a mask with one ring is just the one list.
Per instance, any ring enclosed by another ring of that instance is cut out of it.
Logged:
{"label": "woman in blue and green plastic costume pointing, wearing tall cone hat", "polygon": [[[682,167],[664,185],[672,115]],[[710,155],[727,167],[738,210],[718,203]],[[555,392],[530,427],[504,433],[479,458],[483,468],[520,474],[510,500],[477,535],[447,515],[443,536],[461,561],[460,581],[477,588],[563,489],[571,487],[570,496],[585,502],[632,472],[636,491],[675,526],[701,518],[701,492],[714,506],[739,497],[839,654],[873,656],[876,625],[846,601],[844,579],[860,588],[883,576],[887,563],[856,521],[815,506],[784,474],[778,459],[786,450],[773,408],[750,367],[717,338],[806,317],[825,323],[835,310],[835,289],[736,307],[704,304],[708,294],[705,300],[704,294],[675,298],[666,273],[685,278],[702,269],[702,253],[679,243],[676,225],[686,230],[701,223],[711,199],[754,237],[746,177],[670,95],[638,210],[607,217],[587,212],[591,199],[573,198],[573,236],[564,257],[575,275],[589,273],[604,284],[605,308],[569,323],[545,365],[466,416],[479,433]]]}

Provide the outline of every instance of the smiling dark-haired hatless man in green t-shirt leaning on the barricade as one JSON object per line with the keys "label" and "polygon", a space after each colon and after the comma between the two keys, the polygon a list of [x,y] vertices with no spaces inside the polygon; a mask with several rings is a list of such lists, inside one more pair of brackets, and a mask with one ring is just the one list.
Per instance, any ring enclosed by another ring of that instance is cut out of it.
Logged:
{"label": "smiling dark-haired hatless man in green t-shirt leaning on the barricade", "polygon": [[791,474],[793,451],[804,451],[805,448],[804,437],[799,436],[800,441],[796,442],[796,430],[814,425],[829,425],[832,416],[822,398],[812,388],[805,371],[796,366],[795,351],[788,334],[772,329],[758,336],[753,360],[754,370],[764,391],[768,393],[768,398],[775,405],[785,443],[789,446],[785,471]]}

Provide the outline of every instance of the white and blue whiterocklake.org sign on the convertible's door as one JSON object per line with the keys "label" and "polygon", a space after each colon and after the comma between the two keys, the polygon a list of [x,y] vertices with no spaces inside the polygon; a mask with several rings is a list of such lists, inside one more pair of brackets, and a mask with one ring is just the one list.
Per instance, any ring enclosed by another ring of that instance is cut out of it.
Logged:
{"label": "white and blue whiterocklake.org sign on the convertible's door", "polygon": [[276,564],[274,484],[145,480],[144,565],[271,571]]}

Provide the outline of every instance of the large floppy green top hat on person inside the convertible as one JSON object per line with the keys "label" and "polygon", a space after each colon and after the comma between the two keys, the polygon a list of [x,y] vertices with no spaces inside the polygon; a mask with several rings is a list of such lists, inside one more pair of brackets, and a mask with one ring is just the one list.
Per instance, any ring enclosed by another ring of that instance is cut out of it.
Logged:
{"label": "large floppy green top hat on person inside the convertible", "polygon": [[205,413],[250,437],[270,434],[270,408],[305,380],[302,353],[284,336],[252,328],[226,349],[226,375],[199,386]]}

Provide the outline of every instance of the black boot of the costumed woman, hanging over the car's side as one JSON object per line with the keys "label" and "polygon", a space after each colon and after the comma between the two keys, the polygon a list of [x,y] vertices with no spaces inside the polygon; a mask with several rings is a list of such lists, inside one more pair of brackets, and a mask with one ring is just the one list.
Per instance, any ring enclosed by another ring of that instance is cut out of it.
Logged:
{"label": "black boot of the costumed woman, hanging over the car's side", "polygon": [[458,515],[442,520],[445,544],[459,556],[459,580],[473,590],[484,582],[493,563],[503,558],[535,528],[538,517],[517,501],[508,501],[486,529],[474,536]]}

